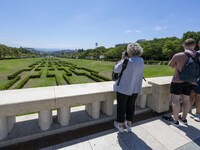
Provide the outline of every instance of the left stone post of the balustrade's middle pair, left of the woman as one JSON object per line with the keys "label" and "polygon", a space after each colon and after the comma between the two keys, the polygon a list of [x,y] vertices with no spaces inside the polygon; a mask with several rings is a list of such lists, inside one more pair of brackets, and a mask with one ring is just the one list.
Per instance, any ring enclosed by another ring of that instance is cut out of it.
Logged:
{"label": "left stone post of the balustrade's middle pair, left of the woman", "polygon": [[43,110],[39,112],[38,125],[41,130],[48,130],[52,123],[51,110]]}

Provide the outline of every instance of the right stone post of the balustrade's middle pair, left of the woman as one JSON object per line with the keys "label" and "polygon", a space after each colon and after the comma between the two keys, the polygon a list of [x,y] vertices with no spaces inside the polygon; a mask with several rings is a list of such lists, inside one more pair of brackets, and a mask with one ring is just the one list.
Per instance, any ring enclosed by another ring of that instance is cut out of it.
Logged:
{"label": "right stone post of the balustrade's middle pair, left of the woman", "polygon": [[67,126],[70,120],[70,107],[64,106],[58,109],[58,122],[62,126]]}

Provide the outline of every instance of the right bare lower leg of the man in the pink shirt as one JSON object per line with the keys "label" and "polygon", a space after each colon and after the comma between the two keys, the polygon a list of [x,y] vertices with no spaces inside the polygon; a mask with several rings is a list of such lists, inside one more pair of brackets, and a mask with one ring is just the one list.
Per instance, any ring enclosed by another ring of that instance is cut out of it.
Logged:
{"label": "right bare lower leg of the man in the pink shirt", "polygon": [[183,95],[183,115],[182,115],[183,120],[186,119],[187,114],[190,111],[190,108],[191,108],[191,104],[190,104],[189,96]]}

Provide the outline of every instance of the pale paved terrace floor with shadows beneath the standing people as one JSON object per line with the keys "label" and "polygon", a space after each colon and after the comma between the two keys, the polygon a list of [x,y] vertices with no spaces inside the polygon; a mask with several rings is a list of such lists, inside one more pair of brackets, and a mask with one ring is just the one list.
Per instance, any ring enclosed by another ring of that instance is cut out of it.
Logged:
{"label": "pale paved terrace floor with shadows beneath the standing people", "polygon": [[41,150],[200,150],[200,122],[190,117],[188,126],[175,127],[159,116],[133,124],[132,133],[113,128]]}

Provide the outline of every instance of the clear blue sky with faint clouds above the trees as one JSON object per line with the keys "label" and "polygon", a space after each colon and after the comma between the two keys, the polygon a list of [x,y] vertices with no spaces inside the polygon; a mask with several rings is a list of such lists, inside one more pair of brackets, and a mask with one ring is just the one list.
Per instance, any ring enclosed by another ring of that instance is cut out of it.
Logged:
{"label": "clear blue sky with faint clouds above the trees", "polygon": [[199,0],[0,0],[0,43],[95,48],[200,31]]}

